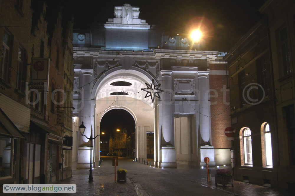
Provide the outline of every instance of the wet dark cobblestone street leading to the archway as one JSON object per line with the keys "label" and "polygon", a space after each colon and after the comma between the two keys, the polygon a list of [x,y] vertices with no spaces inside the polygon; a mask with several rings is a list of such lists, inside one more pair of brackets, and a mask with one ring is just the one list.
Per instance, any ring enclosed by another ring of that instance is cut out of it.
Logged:
{"label": "wet dark cobblestone street leading to the archway", "polygon": [[77,192],[54,195],[292,195],[286,191],[239,181],[234,182],[234,187],[230,185],[215,187],[214,177],[212,182],[207,183],[206,170],[154,168],[122,157],[119,157],[119,166],[116,170],[119,168],[128,170],[127,182],[118,183],[114,182],[114,166],[112,166],[111,157],[102,159],[104,161],[101,167],[93,170],[93,182],[88,182],[89,170],[74,170],[71,178],[57,184],[76,184]]}

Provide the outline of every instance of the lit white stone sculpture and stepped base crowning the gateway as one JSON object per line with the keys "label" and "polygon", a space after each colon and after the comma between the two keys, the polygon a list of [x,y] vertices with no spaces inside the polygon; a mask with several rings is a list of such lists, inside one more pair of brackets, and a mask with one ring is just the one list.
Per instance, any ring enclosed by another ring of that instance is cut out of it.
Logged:
{"label": "lit white stone sculpture and stepped base crowning the gateway", "polygon": [[115,6],[115,18],[108,19],[104,27],[107,29],[150,29],[150,25],[145,20],[138,18],[139,7],[133,7],[130,4]]}

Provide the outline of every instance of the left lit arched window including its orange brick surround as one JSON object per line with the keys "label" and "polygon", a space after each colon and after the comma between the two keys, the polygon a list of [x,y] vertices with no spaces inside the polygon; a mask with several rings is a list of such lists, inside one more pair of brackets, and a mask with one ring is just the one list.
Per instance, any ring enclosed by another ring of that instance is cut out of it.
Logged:
{"label": "left lit arched window including its orange brick surround", "polygon": [[252,165],[252,139],[249,127],[240,130],[241,165]]}

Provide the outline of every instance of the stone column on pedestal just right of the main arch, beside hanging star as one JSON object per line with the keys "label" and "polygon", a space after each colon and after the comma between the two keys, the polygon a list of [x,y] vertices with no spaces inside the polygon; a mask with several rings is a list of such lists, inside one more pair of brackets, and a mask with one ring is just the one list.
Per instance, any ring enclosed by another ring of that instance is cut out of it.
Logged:
{"label": "stone column on pedestal just right of the main arch, beside hanging star", "polygon": [[160,147],[160,167],[176,167],[176,151],[174,146],[174,129],[172,114],[172,71],[161,71],[162,84],[162,139]]}

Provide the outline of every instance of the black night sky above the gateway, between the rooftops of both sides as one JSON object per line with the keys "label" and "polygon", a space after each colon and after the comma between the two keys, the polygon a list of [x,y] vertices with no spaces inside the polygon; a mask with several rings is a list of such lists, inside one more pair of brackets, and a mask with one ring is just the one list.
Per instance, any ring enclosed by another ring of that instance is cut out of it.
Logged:
{"label": "black night sky above the gateway, between the rooftops of both sides", "polygon": [[[226,52],[261,18],[258,9],[266,0],[206,1],[71,1],[74,29],[104,24],[114,17],[114,6],[125,3],[140,7],[140,19],[166,32],[188,33],[200,21],[207,28],[207,39]],[[74,3],[73,3],[74,2]]]}

